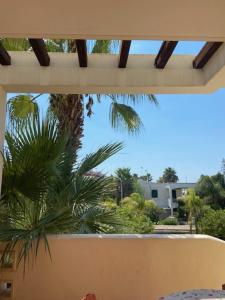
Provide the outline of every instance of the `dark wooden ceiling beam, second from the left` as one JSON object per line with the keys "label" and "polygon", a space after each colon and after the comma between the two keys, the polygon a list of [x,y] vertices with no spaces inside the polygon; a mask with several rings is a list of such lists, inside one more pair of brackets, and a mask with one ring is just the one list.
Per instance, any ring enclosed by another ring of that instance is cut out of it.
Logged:
{"label": "dark wooden ceiling beam, second from the left", "polygon": [[39,61],[39,64],[43,67],[50,65],[50,57],[43,39],[29,39],[30,45]]}

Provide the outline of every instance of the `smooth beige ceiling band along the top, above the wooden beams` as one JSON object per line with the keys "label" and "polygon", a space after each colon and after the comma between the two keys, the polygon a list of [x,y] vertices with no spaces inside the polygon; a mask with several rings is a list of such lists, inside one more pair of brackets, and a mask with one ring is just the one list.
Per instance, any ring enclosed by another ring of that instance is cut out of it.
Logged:
{"label": "smooth beige ceiling band along the top, above the wooden beams", "polygon": [[224,0],[8,0],[0,37],[225,41],[224,11]]}

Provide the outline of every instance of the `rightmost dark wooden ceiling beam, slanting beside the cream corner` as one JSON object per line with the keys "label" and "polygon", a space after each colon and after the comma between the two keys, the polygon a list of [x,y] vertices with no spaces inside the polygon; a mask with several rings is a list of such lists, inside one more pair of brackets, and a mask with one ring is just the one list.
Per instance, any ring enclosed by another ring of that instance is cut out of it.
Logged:
{"label": "rightmost dark wooden ceiling beam, slanting beside the cream corner", "polygon": [[193,68],[202,69],[222,44],[222,42],[205,43],[193,61]]}

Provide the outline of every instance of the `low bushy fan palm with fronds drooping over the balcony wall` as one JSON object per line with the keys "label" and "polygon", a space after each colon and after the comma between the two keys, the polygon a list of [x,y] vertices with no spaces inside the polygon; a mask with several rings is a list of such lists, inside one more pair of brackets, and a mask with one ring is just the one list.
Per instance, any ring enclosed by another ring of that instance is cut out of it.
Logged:
{"label": "low bushy fan palm with fronds drooping over the balcony wall", "polygon": [[105,145],[74,164],[68,136],[59,134],[54,120],[39,118],[8,130],[5,140],[0,199],[4,255],[18,247],[18,263],[25,265],[32,253],[37,256],[40,241],[50,253],[48,234],[107,232],[119,224],[101,204],[111,192],[111,179],[86,174],[117,153],[121,143]]}

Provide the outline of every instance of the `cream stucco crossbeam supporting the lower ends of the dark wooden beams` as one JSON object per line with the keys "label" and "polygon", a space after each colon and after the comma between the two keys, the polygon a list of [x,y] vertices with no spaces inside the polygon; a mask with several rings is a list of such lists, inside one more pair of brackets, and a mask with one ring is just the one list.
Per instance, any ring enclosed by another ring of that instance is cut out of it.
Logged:
{"label": "cream stucco crossbeam supporting the lower ends of the dark wooden beams", "polygon": [[210,93],[225,87],[225,43],[202,69],[193,68],[192,55],[173,55],[164,69],[155,55],[129,55],[126,68],[119,56],[88,55],[80,67],[74,53],[49,53],[43,67],[34,52],[9,52],[11,65],[0,65],[0,86],[7,92],[40,93]]}

